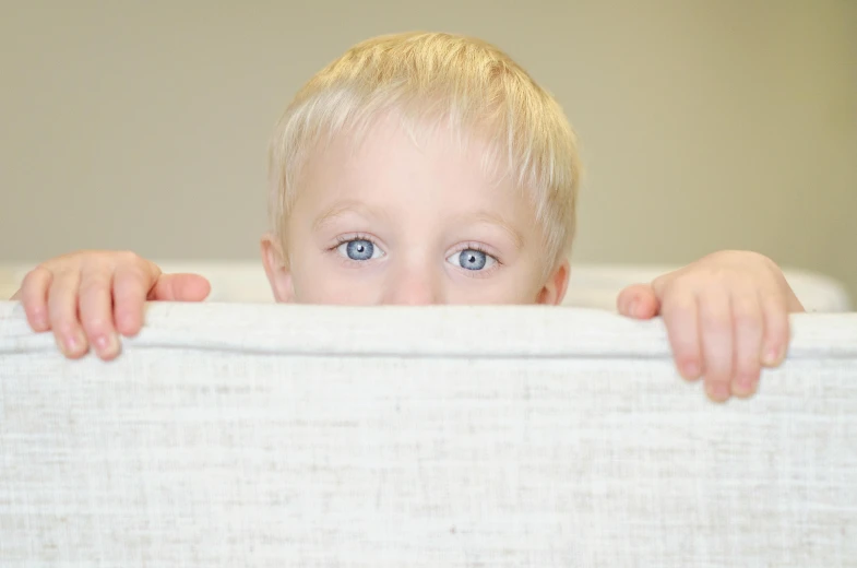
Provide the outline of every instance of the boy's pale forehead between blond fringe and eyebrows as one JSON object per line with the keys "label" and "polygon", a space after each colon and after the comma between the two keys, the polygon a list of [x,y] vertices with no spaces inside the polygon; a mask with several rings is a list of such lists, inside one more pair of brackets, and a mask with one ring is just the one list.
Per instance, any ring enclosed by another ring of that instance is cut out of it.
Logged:
{"label": "boy's pale forehead between blond fringe and eyebrows", "polygon": [[384,212],[406,218],[463,214],[529,224],[534,211],[509,177],[490,175],[484,149],[449,132],[413,139],[396,125],[331,137],[306,164],[297,200],[306,214]]}

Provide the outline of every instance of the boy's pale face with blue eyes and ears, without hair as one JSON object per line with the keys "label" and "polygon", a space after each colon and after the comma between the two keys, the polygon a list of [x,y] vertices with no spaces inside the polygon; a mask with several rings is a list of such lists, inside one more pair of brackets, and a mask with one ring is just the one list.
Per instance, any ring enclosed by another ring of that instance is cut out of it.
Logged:
{"label": "boy's pale face with blue eyes and ears, without hair", "polygon": [[284,236],[288,267],[278,239],[262,241],[276,299],[558,304],[568,262],[543,280],[535,210],[508,179],[483,173],[484,152],[478,143],[459,151],[447,132],[417,145],[395,119],[359,145],[342,135],[316,152]]}

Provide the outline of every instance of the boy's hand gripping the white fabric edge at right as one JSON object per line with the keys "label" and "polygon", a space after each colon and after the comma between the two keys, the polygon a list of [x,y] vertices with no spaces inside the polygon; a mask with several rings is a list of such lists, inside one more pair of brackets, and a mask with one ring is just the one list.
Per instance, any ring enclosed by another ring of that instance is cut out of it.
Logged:
{"label": "boy's hand gripping the white fabric edge at right", "polygon": [[755,392],[762,366],[776,367],[790,339],[788,315],[804,306],[783,271],[755,252],[722,251],[619,294],[619,312],[662,316],[679,374],[705,378],[717,402]]}

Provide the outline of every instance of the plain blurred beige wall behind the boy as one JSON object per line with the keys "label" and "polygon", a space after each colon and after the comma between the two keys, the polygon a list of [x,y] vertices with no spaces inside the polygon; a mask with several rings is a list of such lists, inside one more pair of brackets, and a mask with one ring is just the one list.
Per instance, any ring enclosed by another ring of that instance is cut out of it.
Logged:
{"label": "plain blurred beige wall behind the boy", "polygon": [[751,248],[857,295],[854,0],[2,12],[0,261],[91,247],[255,257],[265,143],[290,94],[359,39],[431,28],[499,44],[566,107],[588,168],[576,259]]}

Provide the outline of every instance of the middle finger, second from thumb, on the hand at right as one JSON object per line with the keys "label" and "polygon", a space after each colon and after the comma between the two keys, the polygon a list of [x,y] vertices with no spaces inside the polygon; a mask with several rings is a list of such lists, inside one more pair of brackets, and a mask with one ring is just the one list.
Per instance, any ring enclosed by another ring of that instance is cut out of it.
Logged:
{"label": "middle finger, second from thumb, on the hand at right", "polygon": [[710,291],[699,298],[705,392],[715,402],[729,398],[734,360],[731,299],[724,291]]}

